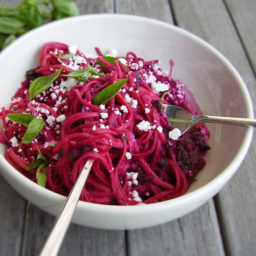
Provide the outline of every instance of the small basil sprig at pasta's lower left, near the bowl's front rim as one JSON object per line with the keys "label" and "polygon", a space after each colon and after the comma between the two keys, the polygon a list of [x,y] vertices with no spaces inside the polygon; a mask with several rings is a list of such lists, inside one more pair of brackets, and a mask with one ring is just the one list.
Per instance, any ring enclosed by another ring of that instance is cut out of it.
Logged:
{"label": "small basil sprig at pasta's lower left, near the bowl's front rim", "polygon": [[[40,155],[40,158],[31,162],[26,170],[31,170],[31,169],[37,168],[37,170],[36,170],[37,184],[40,185],[41,187],[45,188],[46,172],[47,172],[47,168],[49,166],[49,160],[47,159],[46,156],[44,156],[42,154],[41,150],[38,147],[36,147],[36,148]],[[44,172],[41,172],[42,169],[44,169]]]}

